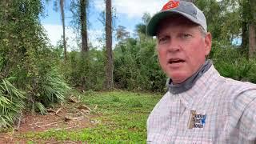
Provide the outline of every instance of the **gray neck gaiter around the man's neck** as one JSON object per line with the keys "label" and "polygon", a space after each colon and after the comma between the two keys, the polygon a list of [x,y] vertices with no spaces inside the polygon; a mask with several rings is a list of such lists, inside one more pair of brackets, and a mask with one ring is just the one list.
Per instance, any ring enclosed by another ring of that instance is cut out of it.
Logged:
{"label": "gray neck gaiter around the man's neck", "polygon": [[185,92],[186,90],[190,90],[192,86],[194,86],[194,83],[197,82],[198,78],[202,76],[202,74],[206,73],[207,70],[210,69],[210,66],[212,66],[212,62],[210,60],[207,60],[196,73],[194,73],[190,78],[187,78],[185,82],[182,82],[180,84],[173,84],[172,80],[169,79],[167,82],[169,91],[171,94],[180,94],[182,92]]}

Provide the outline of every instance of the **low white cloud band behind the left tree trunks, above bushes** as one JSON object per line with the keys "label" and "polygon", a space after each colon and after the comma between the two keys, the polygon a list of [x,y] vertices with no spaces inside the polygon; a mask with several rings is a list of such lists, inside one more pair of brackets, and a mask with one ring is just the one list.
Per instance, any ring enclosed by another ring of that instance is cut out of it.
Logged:
{"label": "low white cloud band behind the left tree trunks, above bushes", "polygon": [[[62,38],[62,25],[45,24],[43,27],[50,39],[50,43],[53,46],[56,46],[57,42]],[[102,38],[103,33],[102,30],[88,30],[89,42],[95,47],[100,47],[101,43],[98,41],[98,38]],[[76,34],[70,27],[66,27],[66,38],[68,39],[66,42],[68,51],[79,49],[76,41]]]}

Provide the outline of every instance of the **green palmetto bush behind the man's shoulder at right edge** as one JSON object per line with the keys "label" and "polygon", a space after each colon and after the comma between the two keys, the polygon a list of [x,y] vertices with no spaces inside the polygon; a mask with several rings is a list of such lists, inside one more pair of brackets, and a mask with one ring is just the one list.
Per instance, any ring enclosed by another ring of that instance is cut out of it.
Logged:
{"label": "green palmetto bush behind the man's shoulder at right edge", "polygon": [[256,82],[255,58],[248,59],[237,46],[221,47],[219,44],[215,43],[210,54],[218,72],[224,77],[238,81]]}

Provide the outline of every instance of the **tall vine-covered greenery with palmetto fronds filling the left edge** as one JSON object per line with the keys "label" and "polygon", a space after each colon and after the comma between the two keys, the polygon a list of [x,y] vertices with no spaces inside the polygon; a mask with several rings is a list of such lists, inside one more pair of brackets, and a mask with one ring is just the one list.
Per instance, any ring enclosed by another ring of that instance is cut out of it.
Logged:
{"label": "tall vine-covered greenery with palmetto fronds filling the left edge", "polygon": [[54,67],[60,60],[39,22],[41,1],[21,0],[1,6],[0,125],[6,127],[22,114],[24,104],[45,114],[45,106],[62,101],[69,88]]}

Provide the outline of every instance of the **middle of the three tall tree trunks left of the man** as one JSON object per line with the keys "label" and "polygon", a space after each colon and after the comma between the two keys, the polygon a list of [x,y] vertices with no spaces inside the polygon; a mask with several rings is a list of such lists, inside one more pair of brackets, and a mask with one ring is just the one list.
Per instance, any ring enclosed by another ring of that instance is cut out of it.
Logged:
{"label": "middle of the three tall tree trunks left of the man", "polygon": [[80,21],[81,21],[81,36],[82,36],[82,53],[87,52],[87,16],[86,16],[87,1],[80,0]]}

